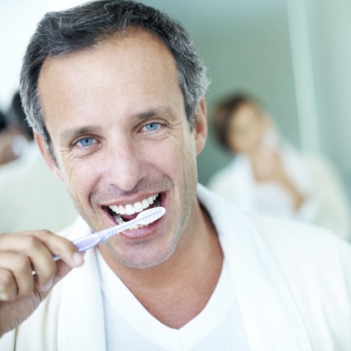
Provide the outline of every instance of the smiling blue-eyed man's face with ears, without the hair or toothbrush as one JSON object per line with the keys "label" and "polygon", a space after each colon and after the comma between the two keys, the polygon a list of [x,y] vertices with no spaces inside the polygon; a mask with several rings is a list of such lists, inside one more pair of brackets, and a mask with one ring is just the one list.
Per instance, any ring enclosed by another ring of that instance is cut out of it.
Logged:
{"label": "smiling blue-eyed man's face with ears, without the hair or toothbrush", "polygon": [[191,132],[166,47],[141,31],[114,38],[45,61],[38,86],[58,168],[36,139],[81,216],[98,231],[161,205],[164,217],[107,246],[132,267],[168,258],[190,232],[205,114]]}

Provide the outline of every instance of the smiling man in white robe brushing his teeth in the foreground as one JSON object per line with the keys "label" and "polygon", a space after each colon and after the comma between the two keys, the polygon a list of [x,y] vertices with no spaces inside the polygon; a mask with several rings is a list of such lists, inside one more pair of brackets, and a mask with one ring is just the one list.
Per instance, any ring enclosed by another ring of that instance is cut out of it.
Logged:
{"label": "smiling man in white robe brushing his teeth in the foreground", "polygon": [[208,81],[178,24],[132,1],[51,13],[21,81],[42,156],[81,215],[64,237],[146,201],[166,214],[84,258],[47,231],[1,236],[1,350],[350,348],[348,244],[251,219],[197,185]]}

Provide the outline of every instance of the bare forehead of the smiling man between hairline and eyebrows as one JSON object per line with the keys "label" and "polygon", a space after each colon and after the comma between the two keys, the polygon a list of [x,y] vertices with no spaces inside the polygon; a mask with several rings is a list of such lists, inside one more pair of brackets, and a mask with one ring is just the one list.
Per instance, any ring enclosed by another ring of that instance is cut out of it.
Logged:
{"label": "bare forehead of the smiling man between hairline and eyebrows", "polygon": [[[80,52],[48,59],[38,80],[45,123],[62,114],[102,114],[141,104],[167,104],[181,95],[176,62],[164,43],[146,31],[130,31]],[[181,95],[182,96],[182,95]],[[142,112],[142,111],[136,111]]]}

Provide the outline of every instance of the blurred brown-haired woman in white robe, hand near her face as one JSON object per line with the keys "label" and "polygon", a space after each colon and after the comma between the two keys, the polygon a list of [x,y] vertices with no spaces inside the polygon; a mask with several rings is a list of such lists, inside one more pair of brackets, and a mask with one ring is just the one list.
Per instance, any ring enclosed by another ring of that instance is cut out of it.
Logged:
{"label": "blurred brown-haired woman in white robe, hand near her face", "polygon": [[208,188],[245,212],[310,222],[351,239],[350,205],[340,176],[320,155],[299,152],[281,137],[256,98],[221,100],[214,132],[233,161],[215,172]]}

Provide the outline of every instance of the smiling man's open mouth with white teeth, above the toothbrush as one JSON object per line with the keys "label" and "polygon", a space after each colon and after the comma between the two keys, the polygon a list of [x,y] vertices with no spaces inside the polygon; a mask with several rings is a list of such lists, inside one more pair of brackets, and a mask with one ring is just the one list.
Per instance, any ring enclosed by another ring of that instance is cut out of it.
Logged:
{"label": "smiling man's open mouth with white teeth, above the toothbrush", "polygon": [[[111,205],[109,206],[109,210],[111,215],[114,217],[118,224],[123,224],[131,219],[137,217],[139,212],[146,210],[147,208],[155,208],[159,207],[161,204],[160,194],[156,194],[150,196],[148,198],[144,198],[141,201],[137,201],[136,203],[127,203],[126,205]],[[136,224],[129,228],[129,230],[135,230],[139,228],[143,228],[149,226],[149,224],[140,226]]]}

